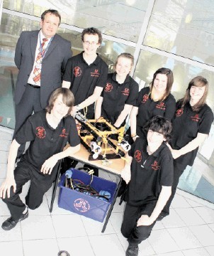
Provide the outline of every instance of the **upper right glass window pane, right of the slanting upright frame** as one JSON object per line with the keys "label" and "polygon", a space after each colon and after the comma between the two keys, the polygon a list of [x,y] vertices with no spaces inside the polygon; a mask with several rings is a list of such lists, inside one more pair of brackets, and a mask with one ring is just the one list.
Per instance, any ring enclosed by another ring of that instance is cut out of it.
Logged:
{"label": "upper right glass window pane, right of the slanting upright frame", "polygon": [[213,65],[213,10],[210,0],[157,0],[143,44]]}

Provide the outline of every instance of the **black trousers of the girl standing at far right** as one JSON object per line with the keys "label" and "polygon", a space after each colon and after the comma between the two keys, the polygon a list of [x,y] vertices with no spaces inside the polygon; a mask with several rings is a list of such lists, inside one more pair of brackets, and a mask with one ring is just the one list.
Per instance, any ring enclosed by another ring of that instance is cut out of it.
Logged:
{"label": "black trousers of the girl standing at far right", "polygon": [[174,195],[176,193],[176,188],[179,184],[179,178],[184,173],[184,170],[186,169],[186,164],[181,164],[176,159],[174,160],[174,180],[173,185],[171,186],[171,196],[169,197],[169,200],[167,201],[166,206],[164,206],[161,215],[167,216],[169,215],[169,207],[171,206],[171,202],[173,201]]}

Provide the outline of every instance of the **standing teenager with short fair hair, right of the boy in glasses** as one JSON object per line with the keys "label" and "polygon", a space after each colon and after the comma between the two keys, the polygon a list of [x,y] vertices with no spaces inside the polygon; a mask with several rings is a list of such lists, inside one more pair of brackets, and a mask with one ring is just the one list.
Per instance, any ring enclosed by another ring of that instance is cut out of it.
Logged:
{"label": "standing teenager with short fair hair, right of the boy in glasses", "polygon": [[106,87],[96,102],[95,118],[100,116],[108,119],[116,127],[125,124],[125,118],[135,105],[139,86],[129,73],[134,58],[130,53],[118,55],[115,73],[108,74]]}

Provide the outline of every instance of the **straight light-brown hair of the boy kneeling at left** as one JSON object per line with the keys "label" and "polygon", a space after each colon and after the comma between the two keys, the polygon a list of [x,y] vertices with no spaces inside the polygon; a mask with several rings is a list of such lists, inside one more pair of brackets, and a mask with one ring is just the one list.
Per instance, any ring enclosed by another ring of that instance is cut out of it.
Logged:
{"label": "straight light-brown hair of the boy kneeling at left", "polygon": [[67,105],[67,107],[69,107],[69,110],[67,112],[67,115],[69,115],[70,112],[72,111],[72,107],[74,106],[74,95],[71,90],[64,88],[64,87],[57,88],[57,90],[52,92],[52,94],[50,95],[48,105],[45,108],[45,110],[47,112],[51,112],[51,110],[55,104],[55,100],[57,100],[57,97],[59,95],[62,95],[62,102],[65,105]]}

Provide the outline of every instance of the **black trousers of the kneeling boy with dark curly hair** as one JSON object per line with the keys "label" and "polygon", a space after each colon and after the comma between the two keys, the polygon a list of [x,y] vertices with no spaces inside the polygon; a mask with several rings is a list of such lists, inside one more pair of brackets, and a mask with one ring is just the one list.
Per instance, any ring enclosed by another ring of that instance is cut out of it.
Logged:
{"label": "black trousers of the kneeling boy with dark curly hair", "polygon": [[139,245],[140,242],[149,238],[156,221],[152,225],[140,225],[137,227],[137,220],[141,215],[150,216],[155,206],[155,203],[147,203],[139,207],[126,204],[121,233],[125,238],[128,238],[128,242],[131,245]]}

